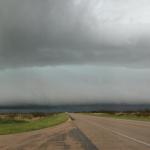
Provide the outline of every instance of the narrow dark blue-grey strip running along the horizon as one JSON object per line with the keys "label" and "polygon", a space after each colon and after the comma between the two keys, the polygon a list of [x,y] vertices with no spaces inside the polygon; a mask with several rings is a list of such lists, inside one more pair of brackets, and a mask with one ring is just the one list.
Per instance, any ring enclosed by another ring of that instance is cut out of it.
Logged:
{"label": "narrow dark blue-grey strip running along the horizon", "polygon": [[15,105],[0,106],[0,112],[149,112],[150,104],[67,104],[67,105]]}

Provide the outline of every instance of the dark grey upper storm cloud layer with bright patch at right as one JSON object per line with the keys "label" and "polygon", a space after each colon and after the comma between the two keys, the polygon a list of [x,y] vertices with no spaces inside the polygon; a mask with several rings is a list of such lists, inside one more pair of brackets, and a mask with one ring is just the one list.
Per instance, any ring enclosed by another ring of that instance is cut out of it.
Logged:
{"label": "dark grey upper storm cloud layer with bright patch at right", "polygon": [[1,0],[0,67],[150,65],[147,0]]}

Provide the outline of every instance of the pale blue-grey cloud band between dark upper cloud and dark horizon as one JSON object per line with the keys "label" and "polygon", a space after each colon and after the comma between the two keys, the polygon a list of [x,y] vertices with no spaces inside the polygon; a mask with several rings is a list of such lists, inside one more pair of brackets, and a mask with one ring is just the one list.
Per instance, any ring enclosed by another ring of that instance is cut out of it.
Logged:
{"label": "pale blue-grey cloud band between dark upper cloud and dark horizon", "polygon": [[150,69],[57,66],[0,72],[0,105],[149,103]]}

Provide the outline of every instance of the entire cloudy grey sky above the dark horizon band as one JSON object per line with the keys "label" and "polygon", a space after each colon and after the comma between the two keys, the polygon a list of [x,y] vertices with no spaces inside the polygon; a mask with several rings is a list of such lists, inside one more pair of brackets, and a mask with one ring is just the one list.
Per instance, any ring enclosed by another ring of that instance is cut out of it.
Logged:
{"label": "entire cloudy grey sky above the dark horizon band", "polygon": [[1,0],[0,105],[150,103],[149,0]]}

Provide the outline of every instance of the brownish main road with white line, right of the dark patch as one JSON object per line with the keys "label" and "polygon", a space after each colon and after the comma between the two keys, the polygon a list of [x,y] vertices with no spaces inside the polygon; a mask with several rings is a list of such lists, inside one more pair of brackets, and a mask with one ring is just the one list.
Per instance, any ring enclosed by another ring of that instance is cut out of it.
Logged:
{"label": "brownish main road with white line, right of the dark patch", "polygon": [[150,150],[150,123],[70,114],[74,124],[100,150]]}

